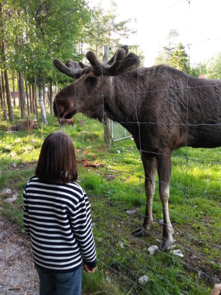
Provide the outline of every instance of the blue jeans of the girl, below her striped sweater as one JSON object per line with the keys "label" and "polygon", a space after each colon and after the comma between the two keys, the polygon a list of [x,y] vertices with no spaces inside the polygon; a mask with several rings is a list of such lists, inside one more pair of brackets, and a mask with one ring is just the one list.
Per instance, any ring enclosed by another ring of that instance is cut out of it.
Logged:
{"label": "blue jeans of the girl, below her striped sweater", "polygon": [[66,273],[46,272],[36,267],[40,279],[40,295],[81,295],[82,266]]}

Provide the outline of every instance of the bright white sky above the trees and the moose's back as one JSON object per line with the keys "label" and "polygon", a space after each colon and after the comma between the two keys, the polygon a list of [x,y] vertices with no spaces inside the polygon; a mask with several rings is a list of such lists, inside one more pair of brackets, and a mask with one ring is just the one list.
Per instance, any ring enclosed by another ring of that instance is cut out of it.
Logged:
{"label": "bright white sky above the trees and the moose's back", "polygon": [[[89,0],[91,6],[101,2],[105,10],[110,0]],[[121,40],[140,45],[145,66],[151,66],[171,29],[179,33],[191,64],[208,60],[221,52],[221,0],[116,0],[117,21],[131,18],[129,26],[137,32]],[[190,44],[190,45],[188,45]]]}

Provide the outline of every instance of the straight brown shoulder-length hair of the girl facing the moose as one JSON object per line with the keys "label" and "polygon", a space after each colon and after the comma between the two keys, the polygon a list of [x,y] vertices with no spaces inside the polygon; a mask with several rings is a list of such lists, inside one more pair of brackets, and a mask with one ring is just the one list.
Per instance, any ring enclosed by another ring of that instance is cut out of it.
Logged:
{"label": "straight brown shoulder-length hair of the girl facing the moose", "polygon": [[66,133],[56,131],[46,137],[35,175],[50,183],[68,183],[77,180],[75,149]]}

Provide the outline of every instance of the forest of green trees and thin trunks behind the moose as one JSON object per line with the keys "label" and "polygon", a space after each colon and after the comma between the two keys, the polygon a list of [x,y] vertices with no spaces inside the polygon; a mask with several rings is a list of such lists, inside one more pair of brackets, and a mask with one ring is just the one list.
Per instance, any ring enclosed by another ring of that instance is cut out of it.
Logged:
{"label": "forest of green trees and thin trunks behind the moose", "polygon": [[[103,46],[110,46],[112,54],[123,45],[122,38],[136,34],[130,19],[116,21],[116,8],[114,1],[105,11],[101,4],[91,7],[84,0],[0,0],[1,119],[13,121],[13,107],[18,104],[22,119],[40,115],[48,124],[46,101],[52,114],[55,92],[72,82],[54,68],[52,60],[80,61],[89,49],[102,60]],[[190,65],[176,29],[169,30],[166,42],[155,64],[165,63],[196,77],[221,78],[221,52]],[[139,45],[128,45],[143,63]]]}

